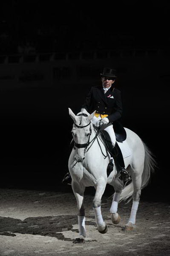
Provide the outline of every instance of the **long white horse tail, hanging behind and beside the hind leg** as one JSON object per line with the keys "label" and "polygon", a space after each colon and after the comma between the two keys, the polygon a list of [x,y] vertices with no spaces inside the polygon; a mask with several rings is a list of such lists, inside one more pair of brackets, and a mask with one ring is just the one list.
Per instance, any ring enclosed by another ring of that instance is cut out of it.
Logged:
{"label": "long white horse tail, hanging behind and beside the hind leg", "polygon": [[[147,184],[150,181],[150,174],[154,172],[157,166],[156,160],[154,159],[154,155],[152,154],[150,149],[147,147],[147,145],[144,142],[142,143],[144,145],[145,157],[144,157],[144,170],[141,178],[141,189],[147,186]],[[127,203],[129,203],[132,199],[132,196],[133,196],[133,181],[129,185],[125,186],[124,189],[122,189],[120,201],[122,200],[126,201],[128,199]]]}

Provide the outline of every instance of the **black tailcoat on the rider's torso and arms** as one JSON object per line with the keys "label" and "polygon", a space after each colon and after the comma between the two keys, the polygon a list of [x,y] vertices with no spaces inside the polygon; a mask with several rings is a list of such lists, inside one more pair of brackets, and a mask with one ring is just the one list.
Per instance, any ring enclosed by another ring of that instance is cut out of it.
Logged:
{"label": "black tailcoat on the rider's torso and arms", "polygon": [[96,110],[96,113],[108,115],[109,122],[114,122],[122,115],[121,91],[111,86],[104,93],[102,86],[93,86],[82,108],[89,113]]}

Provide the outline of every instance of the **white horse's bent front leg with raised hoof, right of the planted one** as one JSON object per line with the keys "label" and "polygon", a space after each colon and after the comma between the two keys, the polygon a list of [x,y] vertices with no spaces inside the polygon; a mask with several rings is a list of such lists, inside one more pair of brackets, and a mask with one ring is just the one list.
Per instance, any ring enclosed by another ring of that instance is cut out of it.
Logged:
{"label": "white horse's bent front leg with raised hoof, right of the planted one", "polygon": [[98,231],[102,234],[107,232],[107,225],[104,222],[101,215],[101,198],[106,188],[107,181],[104,178],[100,178],[95,185],[95,197],[93,199],[93,210],[95,212],[95,221],[98,227]]}

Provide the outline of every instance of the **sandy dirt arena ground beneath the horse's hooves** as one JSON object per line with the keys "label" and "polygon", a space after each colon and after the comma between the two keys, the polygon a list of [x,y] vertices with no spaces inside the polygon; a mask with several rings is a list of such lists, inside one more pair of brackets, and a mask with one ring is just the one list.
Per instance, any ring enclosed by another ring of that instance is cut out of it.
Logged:
{"label": "sandy dirt arena ground beneath the horse's hooves", "polygon": [[136,226],[124,231],[130,204],[120,203],[121,221],[112,224],[111,199],[102,198],[108,232],[97,230],[92,195],[85,195],[86,242],[78,236],[77,206],[73,193],[0,189],[0,256],[170,255],[170,205],[141,201]]}

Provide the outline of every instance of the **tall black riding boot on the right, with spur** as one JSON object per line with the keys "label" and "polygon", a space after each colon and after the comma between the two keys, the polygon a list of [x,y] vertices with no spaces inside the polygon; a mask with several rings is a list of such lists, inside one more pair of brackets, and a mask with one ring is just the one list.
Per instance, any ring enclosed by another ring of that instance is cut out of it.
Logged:
{"label": "tall black riding boot on the right, with spur", "polygon": [[121,153],[121,149],[118,146],[118,143],[115,143],[115,147],[112,149],[113,159],[115,161],[115,165],[117,170],[120,172],[120,179],[123,182],[128,182],[130,180],[130,175],[127,170],[124,168],[124,159]]}

